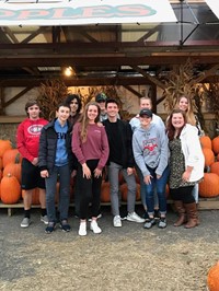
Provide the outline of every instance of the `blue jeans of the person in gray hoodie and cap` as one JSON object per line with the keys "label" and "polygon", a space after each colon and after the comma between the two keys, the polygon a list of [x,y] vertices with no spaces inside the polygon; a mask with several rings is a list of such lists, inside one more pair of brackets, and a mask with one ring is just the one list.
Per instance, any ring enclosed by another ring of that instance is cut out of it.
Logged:
{"label": "blue jeans of the person in gray hoodie and cap", "polygon": [[146,205],[148,209],[148,214],[153,216],[154,213],[154,187],[157,188],[159,210],[161,214],[166,213],[166,198],[165,198],[165,186],[169,178],[169,167],[166,167],[162,176],[158,179],[155,174],[155,168],[148,167],[152,178],[151,184],[145,184],[146,190]]}

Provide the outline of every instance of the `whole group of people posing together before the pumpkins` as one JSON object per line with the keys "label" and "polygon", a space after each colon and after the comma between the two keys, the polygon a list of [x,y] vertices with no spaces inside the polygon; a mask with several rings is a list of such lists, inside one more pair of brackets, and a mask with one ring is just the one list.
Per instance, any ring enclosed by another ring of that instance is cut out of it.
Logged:
{"label": "whole group of people posing together before the pumpkins", "polygon": [[[182,96],[186,98],[185,96]],[[101,233],[97,224],[103,172],[107,172],[111,188],[113,225],[122,226],[119,213],[118,174],[127,183],[128,221],[152,228],[159,212],[158,226],[166,226],[165,188],[169,181],[178,219],[175,226],[194,228],[197,218],[194,186],[204,175],[204,156],[195,125],[187,124],[187,109],[175,109],[162,119],[151,110],[151,100],[140,98],[140,113],[130,123],[119,117],[116,100],[101,93],[85,105],[78,95],[67,96],[58,105],[56,118],[47,121],[39,117],[36,101],[25,105],[27,118],[18,128],[18,149],[22,160],[22,189],[24,189],[24,218],[22,228],[31,222],[31,203],[34,188],[39,188],[41,220],[45,232],[51,233],[59,222],[65,232],[68,223],[70,179],[76,179],[74,203],[80,218],[79,235],[87,235],[89,210],[90,230]],[[135,211],[136,177],[146,218]],[[56,209],[56,184],[59,181],[58,211]],[[90,209],[91,205],[91,209]]]}

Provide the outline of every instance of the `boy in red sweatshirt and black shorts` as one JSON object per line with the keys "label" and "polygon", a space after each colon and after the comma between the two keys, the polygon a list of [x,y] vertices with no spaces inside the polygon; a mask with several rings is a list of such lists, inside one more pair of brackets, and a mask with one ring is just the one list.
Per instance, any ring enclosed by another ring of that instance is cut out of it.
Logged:
{"label": "boy in red sweatshirt and black shorts", "polygon": [[31,219],[32,195],[36,187],[39,188],[42,208],[41,221],[48,223],[46,214],[45,179],[41,177],[38,168],[38,144],[42,128],[48,123],[41,118],[41,108],[37,101],[28,101],[25,105],[27,118],[24,119],[16,131],[16,144],[22,160],[22,189],[24,190],[24,218],[21,228],[28,228]]}

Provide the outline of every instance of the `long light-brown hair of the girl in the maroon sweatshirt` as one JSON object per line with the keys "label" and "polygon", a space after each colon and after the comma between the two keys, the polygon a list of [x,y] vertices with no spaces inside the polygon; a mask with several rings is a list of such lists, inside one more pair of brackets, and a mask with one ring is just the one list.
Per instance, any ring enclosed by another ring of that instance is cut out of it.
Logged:
{"label": "long light-brown hair of the girl in the maroon sweatshirt", "polygon": [[84,112],[81,115],[81,119],[80,119],[80,124],[81,124],[81,128],[80,128],[80,138],[82,142],[87,141],[87,136],[88,136],[88,126],[89,126],[89,118],[88,118],[88,110],[89,110],[89,106],[94,105],[97,108],[97,116],[95,118],[95,124],[97,124],[100,121],[100,114],[101,114],[101,108],[97,104],[97,102],[95,101],[91,101],[89,102],[85,107],[84,107]]}

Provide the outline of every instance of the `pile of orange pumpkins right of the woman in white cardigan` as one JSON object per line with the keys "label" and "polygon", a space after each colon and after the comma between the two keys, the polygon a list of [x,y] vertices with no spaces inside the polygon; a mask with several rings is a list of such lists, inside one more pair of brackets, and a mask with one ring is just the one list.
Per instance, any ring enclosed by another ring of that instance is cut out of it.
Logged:
{"label": "pile of orange pumpkins right of the woman in white cardigan", "polygon": [[208,136],[200,137],[205,156],[205,174],[199,183],[199,196],[205,198],[219,196],[219,137],[212,140]]}

